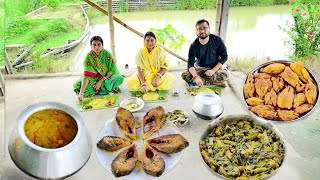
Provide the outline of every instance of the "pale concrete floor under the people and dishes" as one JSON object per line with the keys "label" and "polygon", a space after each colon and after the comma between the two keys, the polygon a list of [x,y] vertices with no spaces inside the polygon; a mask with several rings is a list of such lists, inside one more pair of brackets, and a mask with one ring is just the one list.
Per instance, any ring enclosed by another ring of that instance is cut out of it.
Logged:
{"label": "pale concrete floor under the people and dishes", "polygon": [[[191,110],[193,98],[185,94],[185,83],[180,79],[182,71],[172,72],[176,79],[173,85],[174,90],[180,90],[178,97],[168,96],[168,102],[148,103],[142,109],[146,112],[148,109],[161,105],[166,111],[181,109],[186,111],[190,117],[190,123],[180,128],[184,137],[190,143],[185,149],[184,155],[178,165],[169,173],[162,175],[159,179],[207,179],[217,178],[214,176],[207,165],[203,162],[199,153],[198,142],[201,133],[205,130],[209,121],[198,119]],[[230,75],[229,86],[222,93],[222,102],[225,111],[222,116],[230,114],[248,114],[241,97],[241,87],[244,81],[244,74],[232,72]],[[8,154],[8,139],[13,130],[19,113],[27,106],[43,101],[57,101],[73,108],[76,107],[77,96],[73,93],[72,84],[79,76],[67,77],[49,77],[41,79],[6,79],[6,97],[4,103],[0,102],[0,116],[4,114],[5,123],[0,123],[0,179],[18,180],[33,179],[20,171],[11,161]],[[119,100],[130,97],[126,80],[121,87],[122,93]],[[80,112],[86,127],[89,130],[91,138],[95,144],[95,139],[104,127],[106,121],[114,118],[116,108],[104,109],[89,112]],[[286,158],[280,171],[270,179],[319,179],[320,178],[320,109],[310,115],[307,119],[290,122],[274,123],[282,132],[288,148],[288,157]],[[4,138],[2,138],[4,135]],[[4,141],[4,142],[3,142]],[[98,162],[96,147],[93,146],[91,157],[88,163],[75,175],[67,179],[115,179]]]}

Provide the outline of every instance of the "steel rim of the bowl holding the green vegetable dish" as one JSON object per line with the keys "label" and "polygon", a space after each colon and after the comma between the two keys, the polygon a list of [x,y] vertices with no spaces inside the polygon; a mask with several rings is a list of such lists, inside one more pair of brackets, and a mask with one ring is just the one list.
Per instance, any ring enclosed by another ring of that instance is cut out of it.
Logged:
{"label": "steel rim of the bowl holding the green vegetable dish", "polygon": [[[285,150],[284,152],[284,157],[283,157],[283,161],[282,161],[282,164],[274,171],[274,173],[270,174],[268,177],[274,175],[276,172],[278,172],[281,168],[281,166],[283,165],[283,163],[285,162],[286,160],[286,157],[287,157],[287,149],[286,149],[286,146],[285,146],[285,141],[283,139],[283,136],[282,134],[280,133],[280,131],[274,126],[272,125],[272,123],[270,121],[265,121],[263,119],[259,119],[259,118],[256,118],[255,116],[251,116],[251,115],[245,115],[245,114],[236,114],[236,115],[228,115],[228,116],[224,116],[224,117],[221,117],[219,118],[218,120],[215,120],[215,121],[212,121],[206,128],[206,130],[201,134],[200,136],[200,139],[199,139],[199,144],[200,144],[200,141],[202,139],[204,139],[205,137],[207,137],[211,132],[212,130],[218,126],[219,124],[229,124],[229,123],[236,123],[240,120],[248,120],[248,121],[251,121],[253,122],[253,124],[260,124],[262,125],[263,127],[267,128],[267,129],[270,129],[271,131],[273,131],[280,139],[280,142]],[[200,149],[200,146],[199,146],[199,152],[201,154],[201,149]],[[202,157],[202,156],[201,156]],[[203,159],[203,162],[205,163],[204,159]],[[205,163],[206,164],[206,163]],[[228,179],[227,177],[225,176],[222,176],[220,175],[219,173],[213,171],[207,164],[206,166],[208,167],[208,169],[217,177],[219,178],[222,178],[222,179]]]}

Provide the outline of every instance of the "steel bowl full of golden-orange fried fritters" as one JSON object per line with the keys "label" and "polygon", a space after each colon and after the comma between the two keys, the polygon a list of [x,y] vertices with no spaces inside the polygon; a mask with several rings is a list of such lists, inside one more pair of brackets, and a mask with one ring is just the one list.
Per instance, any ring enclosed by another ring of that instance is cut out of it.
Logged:
{"label": "steel bowl full of golden-orange fried fritters", "polygon": [[251,70],[243,83],[243,101],[265,120],[304,119],[319,104],[319,81],[303,62],[270,61]]}

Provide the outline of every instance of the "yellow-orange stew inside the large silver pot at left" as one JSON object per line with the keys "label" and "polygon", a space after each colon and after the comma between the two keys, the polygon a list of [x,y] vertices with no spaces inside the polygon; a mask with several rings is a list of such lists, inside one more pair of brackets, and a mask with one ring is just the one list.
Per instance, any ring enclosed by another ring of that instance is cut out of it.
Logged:
{"label": "yellow-orange stew inside the large silver pot at left", "polygon": [[32,114],[24,125],[28,139],[44,148],[60,148],[77,135],[75,120],[60,110],[42,110]]}

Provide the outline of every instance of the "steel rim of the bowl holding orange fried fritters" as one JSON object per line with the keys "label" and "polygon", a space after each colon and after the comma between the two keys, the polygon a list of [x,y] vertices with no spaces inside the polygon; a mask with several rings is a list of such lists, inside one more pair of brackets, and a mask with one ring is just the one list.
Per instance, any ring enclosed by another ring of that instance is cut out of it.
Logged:
{"label": "steel rim of the bowl holding orange fried fritters", "polygon": [[[268,65],[270,65],[270,64],[272,64],[272,63],[282,63],[282,64],[288,66],[288,65],[290,65],[290,64],[292,64],[292,63],[294,63],[294,62],[293,62],[293,61],[287,61],[287,60],[269,61],[269,62],[263,63],[263,64],[255,67],[255,68],[252,69],[249,73],[250,73],[250,74],[257,73],[257,72],[259,71],[259,69],[261,69],[261,68],[263,68],[263,67],[266,67],[266,66],[268,66]],[[263,117],[260,117],[260,116],[256,115],[255,113],[251,112],[250,110],[249,110],[249,112],[250,112],[252,115],[254,115],[255,117],[257,117],[257,118],[261,118],[261,119],[269,120],[269,121],[274,121],[274,122],[292,122],[292,121],[297,121],[297,120],[305,119],[307,116],[309,116],[310,114],[312,114],[312,113],[317,109],[317,107],[318,107],[318,105],[319,105],[319,101],[320,101],[320,98],[319,98],[319,80],[318,80],[317,76],[316,76],[310,69],[308,69],[306,66],[305,66],[305,68],[306,68],[306,70],[308,71],[308,73],[310,74],[310,77],[314,80],[314,84],[315,84],[316,87],[317,87],[317,101],[316,101],[315,105],[313,106],[313,108],[312,108],[309,112],[307,112],[307,113],[304,114],[303,116],[301,116],[301,117],[299,117],[299,118],[297,118],[297,119],[291,120],[291,121],[282,121],[282,120],[266,119],[266,118],[263,118]],[[244,80],[244,82],[243,82],[243,86],[242,86],[242,100],[243,100],[245,106],[246,106],[247,109],[248,109],[249,106],[248,106],[248,104],[247,104],[247,102],[246,102],[246,98],[245,98],[245,96],[244,96],[244,84],[246,83],[246,81],[247,81],[247,77],[245,78],[245,80]]]}

